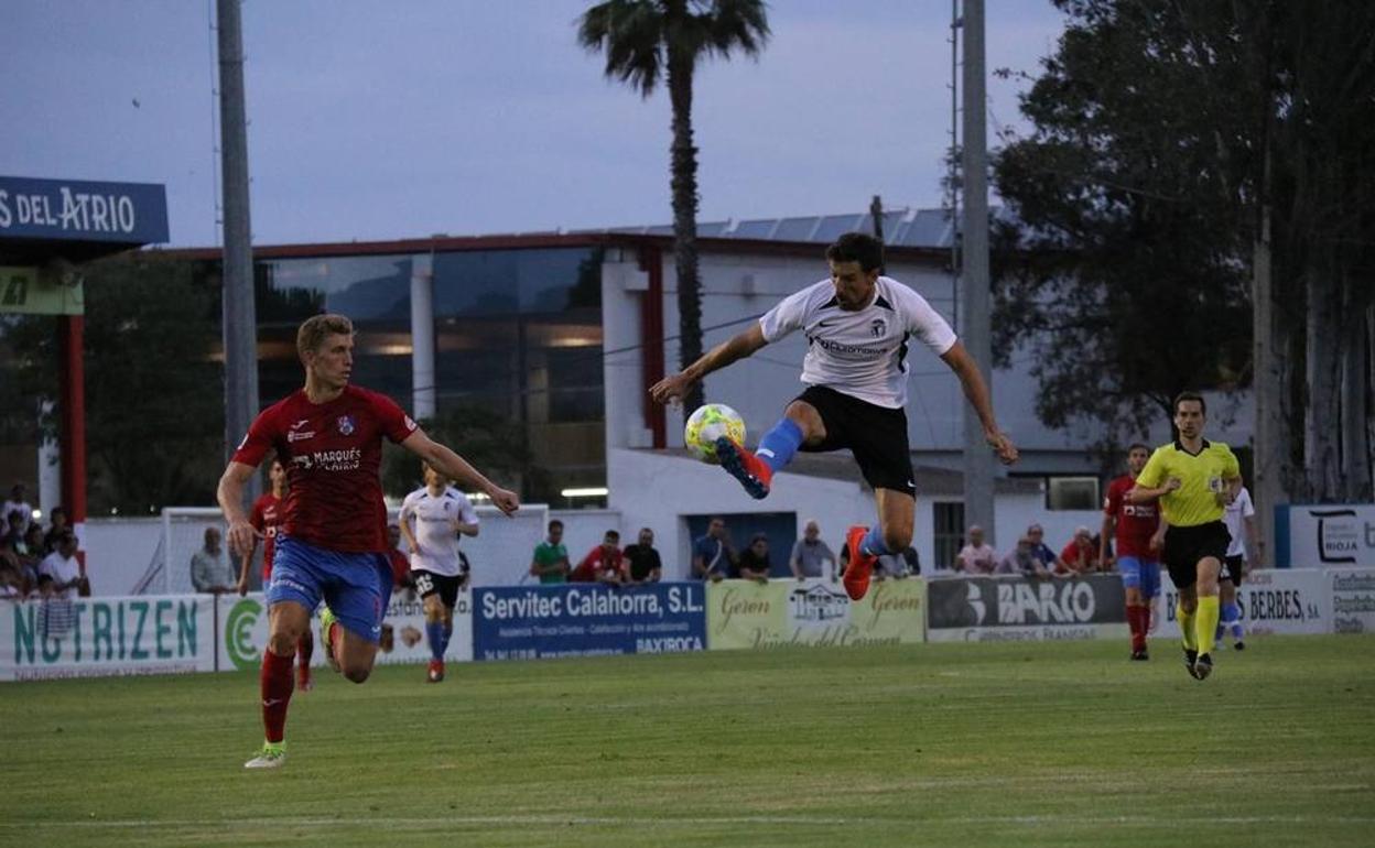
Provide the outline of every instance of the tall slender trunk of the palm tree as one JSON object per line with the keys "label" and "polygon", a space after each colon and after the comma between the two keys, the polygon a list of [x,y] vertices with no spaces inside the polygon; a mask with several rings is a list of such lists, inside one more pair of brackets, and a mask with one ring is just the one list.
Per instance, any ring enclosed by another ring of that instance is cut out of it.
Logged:
{"label": "tall slender trunk of the palm tree", "polygon": [[[672,205],[674,268],[678,276],[678,364],[686,368],[701,357],[701,279],[697,272],[697,148],[692,137],[693,58],[668,56],[668,98],[674,110]],[[683,399],[686,410],[701,405],[704,386]]]}

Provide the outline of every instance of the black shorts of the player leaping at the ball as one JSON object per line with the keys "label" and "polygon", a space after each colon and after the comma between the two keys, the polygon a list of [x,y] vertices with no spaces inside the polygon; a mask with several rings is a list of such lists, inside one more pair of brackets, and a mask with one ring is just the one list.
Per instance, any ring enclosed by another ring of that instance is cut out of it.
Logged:
{"label": "black shorts of the player leaping at the ball", "polygon": [[917,496],[912,451],[908,448],[906,410],[879,407],[826,386],[808,386],[798,400],[811,404],[826,427],[825,440],[815,447],[803,447],[803,451],[850,448],[869,485]]}

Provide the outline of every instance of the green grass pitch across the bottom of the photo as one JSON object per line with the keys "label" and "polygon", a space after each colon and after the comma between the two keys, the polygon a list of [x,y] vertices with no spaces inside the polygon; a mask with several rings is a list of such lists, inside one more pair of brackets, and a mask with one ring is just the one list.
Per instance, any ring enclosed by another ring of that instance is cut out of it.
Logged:
{"label": "green grass pitch across the bottom of the photo", "polygon": [[23,845],[1368,845],[1375,639],[923,645],[0,687]]}

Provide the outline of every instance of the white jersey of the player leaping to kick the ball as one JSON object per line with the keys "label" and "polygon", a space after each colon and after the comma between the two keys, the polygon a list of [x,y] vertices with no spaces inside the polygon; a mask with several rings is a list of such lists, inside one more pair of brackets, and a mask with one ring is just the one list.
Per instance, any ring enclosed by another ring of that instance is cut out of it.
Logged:
{"label": "white jersey of the player leaping to kick the ball", "polygon": [[764,341],[793,330],[807,334],[802,382],[826,386],[890,410],[908,405],[908,337],[940,356],[956,342],[954,330],[927,298],[895,279],[880,276],[873,301],[846,312],[829,279],[791,294],[759,319]]}

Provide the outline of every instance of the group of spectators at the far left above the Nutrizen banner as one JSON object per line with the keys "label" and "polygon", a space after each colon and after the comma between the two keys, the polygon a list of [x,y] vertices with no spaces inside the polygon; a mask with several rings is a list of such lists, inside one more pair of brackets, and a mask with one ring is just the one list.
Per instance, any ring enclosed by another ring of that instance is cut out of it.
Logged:
{"label": "group of spectators at the far left above the Nutrizen banner", "polygon": [[76,598],[89,594],[77,558],[77,537],[60,506],[48,513],[48,526],[34,517],[23,484],[15,484],[0,506],[0,598]]}

